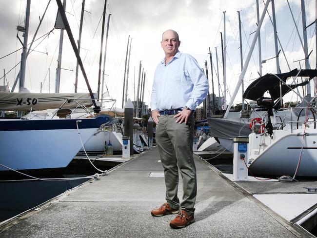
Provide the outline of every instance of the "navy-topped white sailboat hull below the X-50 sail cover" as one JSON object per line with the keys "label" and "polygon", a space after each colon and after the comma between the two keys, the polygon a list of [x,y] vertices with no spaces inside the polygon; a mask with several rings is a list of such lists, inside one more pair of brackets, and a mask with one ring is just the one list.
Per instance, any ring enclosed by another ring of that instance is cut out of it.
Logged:
{"label": "navy-topped white sailboat hull below the X-50 sail cover", "polygon": [[[64,168],[81,148],[78,119],[1,120],[0,164],[14,170]],[[108,117],[80,119],[82,142],[97,131]],[[0,171],[10,170],[0,166]]]}

